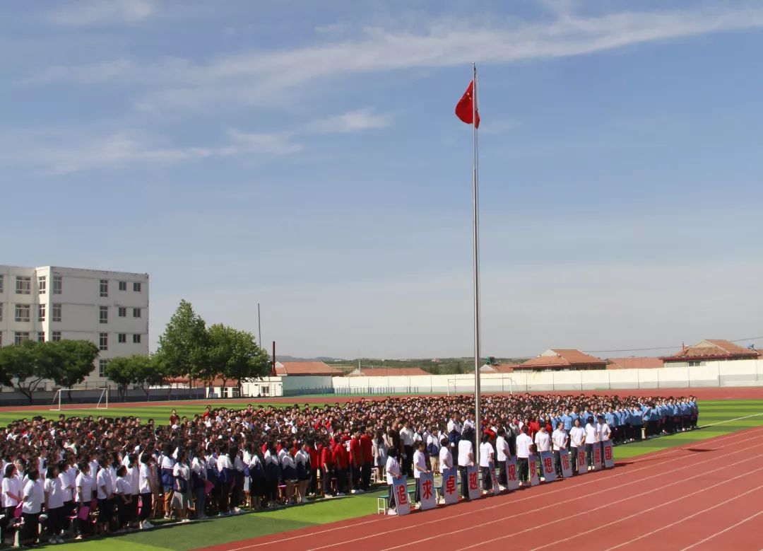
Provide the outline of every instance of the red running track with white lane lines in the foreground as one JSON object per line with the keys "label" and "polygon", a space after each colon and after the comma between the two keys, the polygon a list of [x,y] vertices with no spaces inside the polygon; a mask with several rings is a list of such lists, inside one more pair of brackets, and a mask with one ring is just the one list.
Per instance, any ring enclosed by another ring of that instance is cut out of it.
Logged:
{"label": "red running track with white lane lines in the foreground", "polygon": [[[549,485],[213,546],[288,549],[735,549],[763,547],[763,427],[644,455]],[[256,521],[253,519],[253,521]]]}

